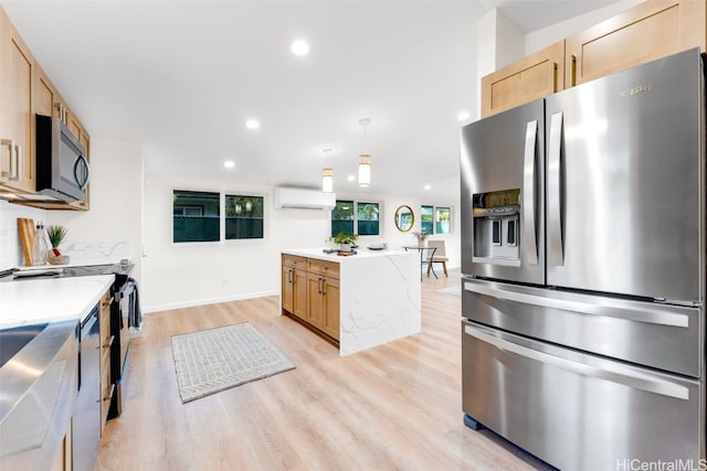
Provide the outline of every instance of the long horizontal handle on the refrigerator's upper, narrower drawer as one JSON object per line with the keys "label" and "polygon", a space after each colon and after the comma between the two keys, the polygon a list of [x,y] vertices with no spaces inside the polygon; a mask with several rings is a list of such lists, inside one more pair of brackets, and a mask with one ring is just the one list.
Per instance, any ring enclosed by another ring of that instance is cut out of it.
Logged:
{"label": "long horizontal handle on the refrigerator's upper, narrower drawer", "polygon": [[509,291],[494,288],[486,283],[464,281],[464,290],[477,295],[490,296],[504,301],[523,302],[525,304],[539,306],[542,308],[559,309],[563,311],[578,312],[588,315],[603,315],[609,318],[625,319],[636,322],[646,322],[657,325],[669,325],[676,328],[689,328],[689,317],[687,313],[673,312],[667,309],[656,309],[648,307],[633,308],[629,303],[621,306],[619,302],[612,304],[600,304],[593,302],[571,301],[567,299],[548,298],[535,296],[526,292]]}

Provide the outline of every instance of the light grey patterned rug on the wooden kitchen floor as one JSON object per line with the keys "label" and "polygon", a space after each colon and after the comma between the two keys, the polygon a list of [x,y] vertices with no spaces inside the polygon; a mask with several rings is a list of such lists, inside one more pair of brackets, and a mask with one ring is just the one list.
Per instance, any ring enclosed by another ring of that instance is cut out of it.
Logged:
{"label": "light grey patterned rug on the wooden kitchen floor", "polygon": [[294,370],[247,322],[172,336],[182,403]]}

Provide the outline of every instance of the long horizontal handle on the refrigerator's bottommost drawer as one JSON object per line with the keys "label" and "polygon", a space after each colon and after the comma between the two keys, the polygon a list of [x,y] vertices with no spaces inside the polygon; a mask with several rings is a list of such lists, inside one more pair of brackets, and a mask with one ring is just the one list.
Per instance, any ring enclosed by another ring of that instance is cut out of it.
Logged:
{"label": "long horizontal handle on the refrigerator's bottommost drawer", "polygon": [[674,397],[676,399],[689,400],[689,389],[679,384],[661,379],[645,373],[630,371],[620,365],[613,366],[611,370],[579,363],[572,360],[556,356],[549,353],[540,352],[496,335],[490,335],[482,329],[474,328],[469,324],[464,325],[464,333],[478,339],[482,342],[494,345],[504,352],[515,353],[540,363],[549,364],[561,370],[573,372],[587,377],[595,377],[612,383],[621,384],[634,389],[642,389],[662,396]]}

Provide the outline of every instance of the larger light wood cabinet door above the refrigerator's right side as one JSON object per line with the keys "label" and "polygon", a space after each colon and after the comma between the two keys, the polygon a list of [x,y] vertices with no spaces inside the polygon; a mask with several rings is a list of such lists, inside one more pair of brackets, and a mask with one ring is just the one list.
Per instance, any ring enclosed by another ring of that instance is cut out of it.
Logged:
{"label": "larger light wood cabinet door above the refrigerator's right side", "polygon": [[571,87],[692,47],[705,52],[706,2],[652,0],[566,40]]}

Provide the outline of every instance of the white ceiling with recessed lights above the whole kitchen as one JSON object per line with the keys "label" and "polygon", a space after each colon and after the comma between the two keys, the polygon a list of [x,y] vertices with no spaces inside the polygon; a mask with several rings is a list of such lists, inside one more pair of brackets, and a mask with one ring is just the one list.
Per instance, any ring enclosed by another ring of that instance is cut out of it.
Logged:
{"label": "white ceiling with recessed lights above the whole kitchen", "polygon": [[[145,144],[148,178],[318,188],[333,167],[339,194],[436,203],[458,197],[478,18],[498,7],[534,31],[612,1],[0,3],[93,137]],[[347,181],[361,152],[368,189]]]}

